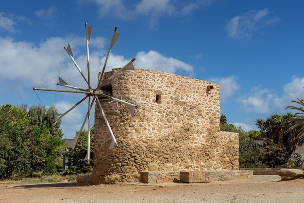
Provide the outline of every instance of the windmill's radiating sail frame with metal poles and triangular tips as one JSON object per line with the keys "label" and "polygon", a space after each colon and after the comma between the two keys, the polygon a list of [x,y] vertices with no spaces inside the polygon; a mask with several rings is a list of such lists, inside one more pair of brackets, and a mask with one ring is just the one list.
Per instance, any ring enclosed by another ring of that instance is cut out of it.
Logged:
{"label": "windmill's radiating sail frame with metal poles and triangular tips", "polygon": [[[128,106],[130,112],[131,112],[131,115],[134,114],[134,111],[135,111],[135,107],[137,107],[135,104],[132,104],[132,103],[129,103],[129,102],[126,102],[126,101],[123,101],[123,100],[120,100],[118,98],[115,98],[115,97],[112,97],[112,96],[109,96],[109,95],[106,95],[104,94],[100,89],[103,85],[109,83],[115,76],[117,76],[120,72],[122,71],[125,71],[125,70],[134,70],[134,66],[133,66],[133,62],[135,61],[135,58],[133,58],[129,63],[127,63],[124,67],[122,67],[121,69],[118,70],[118,72],[116,72],[115,74],[113,74],[112,76],[110,76],[108,79],[106,79],[104,82],[101,83],[101,80],[102,80],[102,77],[103,77],[103,74],[104,74],[104,70],[105,70],[105,67],[106,67],[106,64],[107,64],[107,60],[108,60],[108,57],[111,53],[111,49],[113,47],[113,45],[115,44],[119,34],[117,33],[117,27],[115,27],[115,30],[114,30],[114,34],[113,34],[113,37],[112,37],[112,40],[111,40],[111,43],[110,43],[110,46],[109,46],[109,50],[108,50],[108,53],[107,53],[107,56],[106,56],[106,59],[105,59],[105,62],[104,62],[104,65],[103,65],[103,68],[102,68],[102,72],[101,72],[101,77],[100,77],[100,81],[99,81],[99,84],[98,84],[98,87],[96,89],[93,89],[91,87],[91,82],[90,82],[90,63],[89,63],[89,40],[90,40],[90,37],[91,37],[91,30],[92,30],[92,25],[87,27],[87,23],[85,23],[85,42],[86,42],[86,62],[87,62],[87,73],[88,73],[88,78],[86,78],[83,74],[83,72],[81,71],[80,67],[78,66],[77,62],[75,61],[74,59],[74,56],[73,56],[73,52],[72,52],[72,49],[70,47],[70,45],[68,44],[68,47],[64,47],[64,49],[66,50],[66,52],[68,53],[68,56],[70,57],[70,59],[72,60],[72,62],[74,63],[74,65],[76,66],[76,68],[78,69],[79,73],[83,76],[85,82],[87,83],[88,85],[88,89],[81,89],[81,88],[78,88],[78,87],[73,87],[73,86],[70,86],[68,85],[67,82],[65,82],[61,77],[59,77],[59,83],[57,83],[57,85],[59,86],[63,86],[63,87],[66,87],[66,88],[69,88],[69,89],[74,89],[74,90],[58,90],[58,89],[46,89],[46,88],[33,88],[34,91],[35,90],[41,90],[41,91],[53,91],[53,92],[72,92],[72,93],[83,93],[85,94],[84,98],[81,99],[79,102],[77,102],[73,107],[71,107],[68,111],[62,113],[62,114],[56,114],[55,115],[55,120],[54,122],[58,121],[60,118],[62,118],[63,116],[65,116],[69,111],[73,110],[75,107],[77,107],[80,103],[82,103],[84,100],[86,100],[88,98],[88,111],[86,113],[86,116],[84,118],[84,122],[82,124],[82,127],[81,129],[79,130],[79,132],[77,133],[77,136],[76,138],[73,140],[73,142],[69,143],[68,144],[68,147],[74,149],[76,144],[77,144],[77,141],[81,135],[81,132],[84,128],[84,125],[85,125],[85,122],[87,120],[87,123],[88,123],[88,137],[87,137],[87,153],[86,153],[86,156],[84,158],[85,161],[87,161],[87,164],[90,163],[90,133],[91,133],[91,108],[94,104],[94,102],[96,101],[100,110],[101,110],[101,114],[102,114],[102,117],[109,129],[109,132],[111,134],[111,138],[112,138],[112,142],[111,142],[111,145],[110,145],[110,149],[114,146],[118,146],[117,144],[117,141],[115,139],[115,136],[113,134],[113,131],[111,129],[111,126],[105,116],[105,113],[101,107],[101,103],[98,99],[98,96],[103,96],[103,97],[106,97],[106,98],[109,98],[109,99],[112,99],[114,101],[117,101],[117,102],[120,102],[122,104],[125,104]],[[93,97],[92,101],[91,101],[91,97]]]}

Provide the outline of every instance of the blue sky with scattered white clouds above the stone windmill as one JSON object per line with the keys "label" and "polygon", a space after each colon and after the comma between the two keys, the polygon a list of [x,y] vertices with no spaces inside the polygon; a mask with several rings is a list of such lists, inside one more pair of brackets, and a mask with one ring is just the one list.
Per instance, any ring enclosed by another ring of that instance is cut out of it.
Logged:
{"label": "blue sky with scattered white clouds above the stone windmill", "polygon": [[[117,26],[106,71],[136,57],[135,68],[218,83],[228,123],[256,129],[257,118],[304,98],[303,7],[302,0],[0,1],[0,105],[64,112],[77,103],[83,95],[33,87],[58,88],[58,75],[86,87],[63,48],[70,43],[85,72],[88,23],[93,87]],[[64,116],[65,138],[80,129],[86,109],[84,102]]]}

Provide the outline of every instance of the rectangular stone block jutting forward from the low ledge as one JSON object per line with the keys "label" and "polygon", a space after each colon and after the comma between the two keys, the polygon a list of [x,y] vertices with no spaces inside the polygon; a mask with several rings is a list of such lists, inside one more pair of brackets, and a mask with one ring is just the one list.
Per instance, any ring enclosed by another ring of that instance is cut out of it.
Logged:
{"label": "rectangular stone block jutting forward from the low ledge", "polygon": [[207,171],[180,172],[180,180],[185,183],[210,183],[212,181],[211,179],[211,173]]}

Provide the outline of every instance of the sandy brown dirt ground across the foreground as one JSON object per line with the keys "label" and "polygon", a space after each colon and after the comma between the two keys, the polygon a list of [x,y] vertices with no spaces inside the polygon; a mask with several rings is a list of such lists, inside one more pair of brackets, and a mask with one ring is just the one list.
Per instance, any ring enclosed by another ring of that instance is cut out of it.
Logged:
{"label": "sandy brown dirt ground across the foreground", "polygon": [[0,203],[303,203],[304,179],[253,176],[209,184],[0,184]]}

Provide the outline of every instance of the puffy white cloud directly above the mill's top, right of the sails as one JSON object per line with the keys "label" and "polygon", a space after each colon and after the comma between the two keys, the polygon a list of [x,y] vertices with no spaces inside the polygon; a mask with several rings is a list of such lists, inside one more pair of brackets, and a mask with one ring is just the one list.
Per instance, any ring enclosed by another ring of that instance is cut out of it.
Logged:
{"label": "puffy white cloud directly above the mill's top, right of the sails", "polygon": [[175,73],[176,71],[186,71],[192,74],[193,67],[183,61],[172,57],[166,57],[156,51],[138,52],[136,55],[135,68],[151,69]]}

